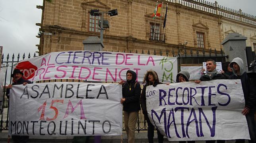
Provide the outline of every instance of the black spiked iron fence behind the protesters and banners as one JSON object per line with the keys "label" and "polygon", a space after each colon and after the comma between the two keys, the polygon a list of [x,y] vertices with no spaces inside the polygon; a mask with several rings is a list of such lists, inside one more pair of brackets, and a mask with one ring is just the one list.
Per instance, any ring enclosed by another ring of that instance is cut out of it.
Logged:
{"label": "black spiked iron fence behind the protesters and banners", "polygon": [[[119,51],[118,51],[119,52]],[[132,51],[123,51],[126,53],[132,53]],[[156,50],[153,50],[153,53],[150,52],[150,50],[147,51],[147,53],[144,53],[144,50],[141,51],[141,54],[148,54],[148,55],[165,55],[165,56],[172,56],[172,57],[178,57],[178,70],[180,67],[180,64],[202,64],[202,62],[208,60],[208,59],[213,59],[216,62],[225,62],[226,56],[224,55],[223,51],[221,50],[220,53],[217,54],[216,50],[211,50],[207,53],[206,51],[196,51],[196,53],[193,53],[192,50],[189,51],[189,53],[186,50],[186,47],[184,49],[179,49],[178,52],[175,53],[174,49],[172,51],[166,50],[164,51],[165,54],[163,54],[163,51],[159,51],[159,53],[156,52]],[[135,53],[138,53],[136,50]],[[35,57],[36,54],[34,53],[33,57]],[[31,58],[31,55],[27,56],[27,58]],[[9,56],[9,54],[5,57],[4,54],[2,55],[2,67],[8,67],[6,70],[5,74],[5,81],[4,81],[4,97],[3,97],[3,104],[2,104],[2,109],[3,109],[3,114],[1,116],[0,120],[0,132],[2,130],[8,130],[8,118],[9,118],[9,102],[8,99],[5,95],[6,93],[6,88],[9,84],[12,83],[12,78],[11,74],[14,68],[14,64],[19,62],[20,60],[27,59],[25,56],[25,53],[23,54],[22,57],[18,54],[15,56],[14,54],[12,57]],[[56,81],[56,80],[54,80]],[[61,80],[62,82],[68,81],[68,79],[63,79]],[[72,80],[74,81],[74,79]],[[50,81],[42,81],[42,82],[50,82]],[[124,126],[123,126],[124,130]],[[138,115],[138,120],[136,124],[136,131],[140,132],[143,130],[147,130],[147,123],[144,120],[144,116],[142,114],[142,111],[139,112]]]}

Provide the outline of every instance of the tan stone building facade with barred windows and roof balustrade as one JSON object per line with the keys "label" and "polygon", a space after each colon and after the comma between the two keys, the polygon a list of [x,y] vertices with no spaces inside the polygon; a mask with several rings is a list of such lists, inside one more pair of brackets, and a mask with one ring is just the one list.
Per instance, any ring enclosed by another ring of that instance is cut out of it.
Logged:
{"label": "tan stone building facade with barred windows and roof balustrade", "polygon": [[[98,22],[103,16],[110,28],[104,30],[104,51],[139,53],[154,50],[202,52],[216,49],[231,32],[248,38],[247,45],[256,45],[256,17],[202,0],[162,0],[161,17],[152,19],[155,0],[52,0],[43,2],[42,31],[39,55],[56,51],[83,50],[82,41],[100,36]],[[163,29],[168,3],[166,28]],[[118,15],[91,16],[91,9],[118,9]],[[155,28],[154,28],[155,27]],[[155,29],[155,30],[154,30]],[[154,35],[155,33],[155,35]]]}

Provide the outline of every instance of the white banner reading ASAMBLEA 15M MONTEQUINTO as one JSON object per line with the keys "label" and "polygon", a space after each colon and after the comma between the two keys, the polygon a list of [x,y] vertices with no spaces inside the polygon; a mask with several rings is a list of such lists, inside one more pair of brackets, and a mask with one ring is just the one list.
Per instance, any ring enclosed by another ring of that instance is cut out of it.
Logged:
{"label": "white banner reading ASAMBLEA 15M MONTEQUINTO", "polygon": [[14,85],[9,134],[86,136],[122,134],[122,86],[55,82]]}

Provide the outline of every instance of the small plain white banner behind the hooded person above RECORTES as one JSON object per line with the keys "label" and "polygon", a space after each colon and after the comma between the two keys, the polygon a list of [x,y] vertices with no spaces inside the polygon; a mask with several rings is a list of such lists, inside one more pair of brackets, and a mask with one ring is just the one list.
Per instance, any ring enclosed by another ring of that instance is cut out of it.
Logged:
{"label": "small plain white banner behind the hooded person above RECORTES", "polygon": [[[183,66],[182,66],[183,65]],[[180,71],[186,70],[189,72],[190,80],[198,80],[202,76],[203,66],[190,66],[191,64],[182,64],[180,66]],[[201,64],[202,65],[202,64]]]}

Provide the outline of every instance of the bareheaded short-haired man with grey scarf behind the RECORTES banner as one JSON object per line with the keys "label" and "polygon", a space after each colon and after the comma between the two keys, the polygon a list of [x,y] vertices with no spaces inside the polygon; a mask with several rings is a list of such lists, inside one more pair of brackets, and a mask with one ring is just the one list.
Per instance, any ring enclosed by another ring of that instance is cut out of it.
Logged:
{"label": "bareheaded short-haired man with grey scarf behind the RECORTES banner", "polygon": [[[215,80],[215,79],[226,79],[224,77],[224,75],[222,75],[221,73],[219,73],[216,70],[216,62],[214,60],[207,60],[206,61],[206,74],[202,75],[202,77],[200,77],[200,80],[195,81],[196,83],[200,83],[201,81],[211,81],[211,80]],[[206,143],[215,143],[215,140],[209,140],[206,141]],[[225,143],[225,140],[217,140],[217,143]]]}

